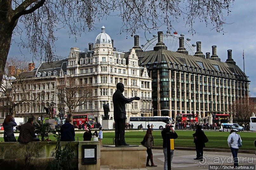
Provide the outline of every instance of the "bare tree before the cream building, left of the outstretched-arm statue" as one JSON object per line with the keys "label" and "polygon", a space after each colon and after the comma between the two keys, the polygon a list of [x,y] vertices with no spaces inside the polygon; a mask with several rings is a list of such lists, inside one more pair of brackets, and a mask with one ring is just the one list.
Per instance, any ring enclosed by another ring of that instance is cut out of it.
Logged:
{"label": "bare tree before the cream building, left of the outstretched-arm statue", "polygon": [[72,115],[78,106],[94,100],[91,84],[81,84],[74,77],[59,78],[57,80],[55,95],[60,104],[65,104],[68,109],[68,117],[73,123]]}

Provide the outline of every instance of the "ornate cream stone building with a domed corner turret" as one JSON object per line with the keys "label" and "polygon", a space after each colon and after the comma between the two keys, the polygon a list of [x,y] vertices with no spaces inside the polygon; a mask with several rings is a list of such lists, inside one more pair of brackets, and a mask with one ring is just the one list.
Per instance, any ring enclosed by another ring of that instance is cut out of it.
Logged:
{"label": "ornate cream stone building with a domed corner turret", "polygon": [[[147,68],[139,66],[135,49],[124,53],[116,50],[113,44],[114,41],[103,26],[102,32],[95,39],[95,44],[89,43],[87,51],[72,47],[65,60],[43,62],[38,68],[21,73],[31,82],[26,85],[30,93],[27,101],[16,107],[16,115],[49,117],[45,114],[44,107],[48,108],[51,103],[54,105],[56,115],[66,115],[68,108],[57,95],[57,87],[72,77],[80,86],[93,89],[93,100],[76,107],[74,114],[91,113],[95,122],[101,122],[104,115],[103,106],[109,103],[110,118],[113,119],[112,96],[116,84],[121,82],[125,87],[125,97],[141,97],[140,101],[126,105],[127,117],[152,116],[152,80],[148,76]],[[22,93],[22,89],[20,92]],[[80,94],[77,92],[75,95],[79,98]]]}

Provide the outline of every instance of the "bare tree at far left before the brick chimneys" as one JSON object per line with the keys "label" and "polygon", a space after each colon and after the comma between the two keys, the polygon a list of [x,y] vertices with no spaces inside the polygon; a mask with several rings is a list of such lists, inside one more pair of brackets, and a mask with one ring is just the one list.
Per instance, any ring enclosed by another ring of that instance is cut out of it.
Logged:
{"label": "bare tree at far left before the brick chimneys", "polygon": [[[28,100],[28,96],[31,90],[28,88],[28,80],[25,76],[28,70],[28,62],[19,60],[17,58],[9,58],[5,72],[3,76],[3,82],[1,84],[1,99],[6,100],[6,110],[8,109],[9,114],[15,117],[16,106],[21,105],[23,102]],[[22,74],[20,74],[23,72]]]}

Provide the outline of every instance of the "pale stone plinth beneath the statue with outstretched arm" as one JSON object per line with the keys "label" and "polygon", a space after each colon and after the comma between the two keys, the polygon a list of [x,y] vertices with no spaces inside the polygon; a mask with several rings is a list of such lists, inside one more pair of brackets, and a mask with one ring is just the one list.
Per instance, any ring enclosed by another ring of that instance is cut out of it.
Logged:
{"label": "pale stone plinth beneath the statue with outstretched arm", "polygon": [[144,146],[101,147],[101,165],[109,169],[146,168],[146,151]]}

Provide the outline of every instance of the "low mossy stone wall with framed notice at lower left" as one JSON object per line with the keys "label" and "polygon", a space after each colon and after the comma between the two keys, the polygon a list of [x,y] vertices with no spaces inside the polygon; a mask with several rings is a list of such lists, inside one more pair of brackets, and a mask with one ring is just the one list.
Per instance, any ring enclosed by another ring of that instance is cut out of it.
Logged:
{"label": "low mossy stone wall with framed notice at lower left", "polygon": [[[61,142],[64,146],[68,142]],[[75,148],[72,164],[74,169],[95,170],[100,169],[100,145],[95,141],[74,141],[70,145]],[[97,164],[82,165],[82,145],[97,145]],[[28,169],[45,170],[47,164],[55,159],[52,153],[55,151],[56,142],[19,142],[0,143],[0,167],[1,169],[23,169],[25,167],[24,155],[34,153]]]}

